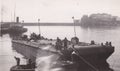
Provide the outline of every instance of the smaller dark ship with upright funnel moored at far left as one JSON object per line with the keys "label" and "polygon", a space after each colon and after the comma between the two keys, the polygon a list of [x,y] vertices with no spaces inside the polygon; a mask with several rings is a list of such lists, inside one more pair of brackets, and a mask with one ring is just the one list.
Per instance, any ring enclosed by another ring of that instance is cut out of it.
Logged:
{"label": "smaller dark ship with upright funnel moored at far left", "polygon": [[22,34],[27,32],[27,28],[24,28],[19,22],[19,17],[16,17],[16,22],[2,22],[0,32],[1,34]]}

